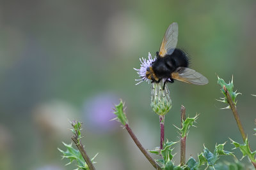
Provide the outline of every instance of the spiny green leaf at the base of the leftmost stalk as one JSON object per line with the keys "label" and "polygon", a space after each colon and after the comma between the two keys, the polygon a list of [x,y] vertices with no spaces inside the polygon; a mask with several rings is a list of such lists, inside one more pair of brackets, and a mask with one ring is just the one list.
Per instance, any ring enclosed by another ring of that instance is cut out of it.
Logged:
{"label": "spiny green leaf at the base of the leftmost stalk", "polygon": [[[76,150],[75,148],[72,147],[72,143],[70,143],[70,145],[63,143],[63,145],[67,148],[66,151],[61,150],[60,148],[58,148],[58,150],[63,154],[62,158],[67,158],[70,160],[70,162],[68,162],[68,164],[71,164],[74,160],[76,160],[77,162],[77,167],[78,169],[86,169],[89,170],[86,162],[83,159],[83,156],[81,155],[81,153],[79,152],[79,150]],[[98,153],[95,155],[95,157],[98,155]],[[94,162],[93,160],[95,159],[95,157],[93,157],[92,163],[95,164],[96,162]],[[66,164],[66,166],[68,165]]]}

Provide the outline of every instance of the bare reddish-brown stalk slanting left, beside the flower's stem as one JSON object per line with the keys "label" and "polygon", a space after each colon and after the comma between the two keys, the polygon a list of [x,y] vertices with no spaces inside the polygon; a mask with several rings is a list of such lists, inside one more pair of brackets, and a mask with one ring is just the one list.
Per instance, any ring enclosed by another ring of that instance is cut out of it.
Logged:
{"label": "bare reddish-brown stalk slanting left, beside the flower's stem", "polygon": [[152,159],[152,157],[150,157],[150,155],[148,155],[147,150],[145,150],[145,148],[143,148],[143,146],[141,145],[140,141],[138,140],[138,138],[135,136],[135,134],[132,132],[132,129],[129,127],[128,124],[125,124],[125,129],[127,130],[127,132],[130,134],[132,140],[134,141],[134,143],[138,146],[138,148],[140,149],[140,151],[143,153],[143,155],[145,155],[145,157],[148,159],[148,161],[152,164],[152,166],[154,166],[156,169],[161,169],[161,167],[159,167],[155,160]]}

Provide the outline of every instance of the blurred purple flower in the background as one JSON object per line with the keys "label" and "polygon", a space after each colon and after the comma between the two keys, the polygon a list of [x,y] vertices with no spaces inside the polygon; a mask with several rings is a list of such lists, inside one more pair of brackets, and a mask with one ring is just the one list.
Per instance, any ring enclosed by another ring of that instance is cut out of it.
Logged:
{"label": "blurred purple flower in the background", "polygon": [[104,93],[87,99],[84,103],[84,126],[92,129],[93,132],[111,132],[119,126],[116,121],[110,121],[115,118],[113,113],[114,104],[118,103],[118,97],[115,94]]}

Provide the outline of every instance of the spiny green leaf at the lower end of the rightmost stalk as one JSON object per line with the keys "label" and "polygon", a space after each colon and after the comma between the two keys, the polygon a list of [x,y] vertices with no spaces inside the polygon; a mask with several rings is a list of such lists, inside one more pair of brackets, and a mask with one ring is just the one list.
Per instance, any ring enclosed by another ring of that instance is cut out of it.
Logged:
{"label": "spiny green leaf at the lower end of the rightmost stalk", "polygon": [[243,159],[244,157],[247,156],[247,157],[249,157],[250,160],[252,160],[252,162],[256,162],[256,160],[255,160],[256,151],[251,152],[247,138],[245,139],[244,144],[237,143],[236,141],[233,141],[232,139],[230,139],[230,140],[231,140],[231,143],[236,148],[239,148],[240,151],[243,153],[243,157],[241,159]]}

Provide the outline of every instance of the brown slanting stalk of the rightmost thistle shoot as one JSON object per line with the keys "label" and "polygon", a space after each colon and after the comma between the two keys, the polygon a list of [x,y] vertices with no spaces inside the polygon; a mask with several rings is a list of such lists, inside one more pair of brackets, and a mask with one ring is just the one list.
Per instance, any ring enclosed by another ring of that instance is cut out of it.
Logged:
{"label": "brown slanting stalk of the rightmost thistle shoot", "polygon": [[[245,140],[246,140],[246,134],[245,134],[245,132],[244,132],[244,129],[243,129],[241,120],[240,120],[239,115],[238,115],[238,113],[237,113],[236,105],[235,105],[234,102],[232,101],[232,99],[231,99],[231,97],[230,97],[230,94],[229,94],[227,88],[224,86],[223,89],[224,89],[225,94],[226,94],[226,96],[227,96],[228,104],[229,104],[229,106],[230,106],[230,108],[231,108],[231,110],[232,110],[232,113],[233,113],[233,115],[234,115],[234,117],[235,117],[235,119],[236,119],[236,123],[237,123],[238,129],[239,129],[239,131],[240,131],[240,133],[241,133],[241,135],[242,135],[243,141],[245,141]],[[250,146],[249,146],[249,148],[250,148]],[[251,148],[250,148],[250,150],[251,150]],[[252,159],[251,159],[251,162],[252,162],[253,166],[256,168],[256,162],[253,162]]]}

